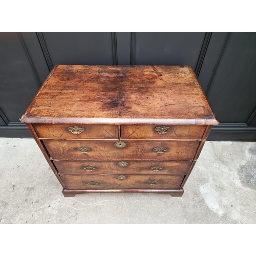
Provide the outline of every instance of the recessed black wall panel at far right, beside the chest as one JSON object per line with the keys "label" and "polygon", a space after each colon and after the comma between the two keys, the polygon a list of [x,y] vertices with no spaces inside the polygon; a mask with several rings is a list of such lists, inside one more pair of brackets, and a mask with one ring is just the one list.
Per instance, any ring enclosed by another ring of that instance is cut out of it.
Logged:
{"label": "recessed black wall panel at far right, beside the chest", "polygon": [[256,33],[232,32],[207,98],[220,122],[245,123],[256,106]]}

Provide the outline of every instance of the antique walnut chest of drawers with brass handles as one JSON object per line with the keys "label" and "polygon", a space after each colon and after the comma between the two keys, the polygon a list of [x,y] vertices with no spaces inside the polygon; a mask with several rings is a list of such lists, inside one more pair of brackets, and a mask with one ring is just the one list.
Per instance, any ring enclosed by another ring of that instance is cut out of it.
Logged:
{"label": "antique walnut chest of drawers with brass handles", "polygon": [[218,124],[190,66],[55,66],[26,123],[64,196],[182,196]]}

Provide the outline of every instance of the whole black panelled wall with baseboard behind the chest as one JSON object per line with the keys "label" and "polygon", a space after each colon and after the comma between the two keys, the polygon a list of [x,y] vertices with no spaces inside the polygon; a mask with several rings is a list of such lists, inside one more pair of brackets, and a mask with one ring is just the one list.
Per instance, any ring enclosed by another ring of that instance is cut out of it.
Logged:
{"label": "whole black panelled wall with baseboard behind the chest", "polygon": [[209,140],[256,141],[254,32],[1,32],[0,137],[31,137],[19,118],[57,64],[191,65],[221,122]]}

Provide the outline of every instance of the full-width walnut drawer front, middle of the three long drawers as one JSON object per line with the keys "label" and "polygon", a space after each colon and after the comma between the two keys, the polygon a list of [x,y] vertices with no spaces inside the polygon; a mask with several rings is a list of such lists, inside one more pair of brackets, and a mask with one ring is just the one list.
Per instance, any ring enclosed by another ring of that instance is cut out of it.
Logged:
{"label": "full-width walnut drawer front, middle of the three long drawers", "polygon": [[60,174],[182,174],[190,161],[54,161]]}

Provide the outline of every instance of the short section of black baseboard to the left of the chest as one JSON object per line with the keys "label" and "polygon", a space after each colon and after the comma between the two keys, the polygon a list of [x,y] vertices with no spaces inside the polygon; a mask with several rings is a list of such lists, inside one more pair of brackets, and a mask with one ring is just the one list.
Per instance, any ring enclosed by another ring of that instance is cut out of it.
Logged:
{"label": "short section of black baseboard to the left of the chest", "polygon": [[0,137],[4,138],[32,138],[28,127],[24,123],[10,122],[6,126],[0,126]]}

